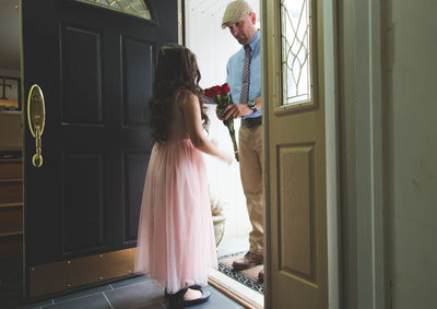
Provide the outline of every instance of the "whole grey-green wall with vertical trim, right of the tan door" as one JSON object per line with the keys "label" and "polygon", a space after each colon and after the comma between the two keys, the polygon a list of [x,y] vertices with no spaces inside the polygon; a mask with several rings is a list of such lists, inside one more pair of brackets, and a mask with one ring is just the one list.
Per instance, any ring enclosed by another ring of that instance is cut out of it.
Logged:
{"label": "whole grey-green wall with vertical trim, right of the tan door", "polygon": [[434,308],[437,3],[339,0],[343,308]]}

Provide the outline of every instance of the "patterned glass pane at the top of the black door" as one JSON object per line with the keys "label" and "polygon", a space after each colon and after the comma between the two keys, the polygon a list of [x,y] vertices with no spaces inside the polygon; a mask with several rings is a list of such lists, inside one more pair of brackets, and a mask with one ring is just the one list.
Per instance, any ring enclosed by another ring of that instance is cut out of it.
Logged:
{"label": "patterned glass pane at the top of the black door", "polygon": [[122,12],[125,14],[152,20],[150,11],[143,0],[76,0],[109,10]]}

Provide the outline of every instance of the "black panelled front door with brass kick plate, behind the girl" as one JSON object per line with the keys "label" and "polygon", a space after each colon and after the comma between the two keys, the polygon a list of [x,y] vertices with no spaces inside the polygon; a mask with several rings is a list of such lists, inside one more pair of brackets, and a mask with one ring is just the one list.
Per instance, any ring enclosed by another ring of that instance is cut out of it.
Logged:
{"label": "black panelled front door with brass kick plate, behind the girl", "polygon": [[152,148],[147,98],[157,50],[177,41],[178,19],[177,0],[119,2],[132,2],[134,14],[144,3],[151,20],[85,0],[22,1],[24,97],[37,84],[46,107],[39,168],[24,128],[31,297],[132,269],[115,271],[134,257],[127,250]]}

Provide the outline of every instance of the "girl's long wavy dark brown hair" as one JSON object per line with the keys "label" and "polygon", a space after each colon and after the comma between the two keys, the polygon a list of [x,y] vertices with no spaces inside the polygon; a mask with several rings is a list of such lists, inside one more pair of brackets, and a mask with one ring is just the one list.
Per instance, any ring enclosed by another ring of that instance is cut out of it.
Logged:
{"label": "girl's long wavy dark brown hair", "polygon": [[150,126],[155,142],[162,143],[168,140],[172,107],[176,95],[180,92],[190,92],[199,97],[202,124],[206,128],[209,118],[203,107],[200,78],[196,56],[188,48],[167,44],[160,49],[152,96],[149,99]]}

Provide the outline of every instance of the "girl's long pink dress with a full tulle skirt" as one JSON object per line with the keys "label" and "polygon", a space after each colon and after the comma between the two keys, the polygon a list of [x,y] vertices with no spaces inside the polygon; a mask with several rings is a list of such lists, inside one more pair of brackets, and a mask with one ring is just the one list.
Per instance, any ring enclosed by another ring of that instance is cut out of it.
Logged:
{"label": "girl's long pink dress with a full tulle skirt", "polygon": [[203,158],[175,104],[170,140],[153,146],[142,197],[135,271],[174,294],[217,268]]}

